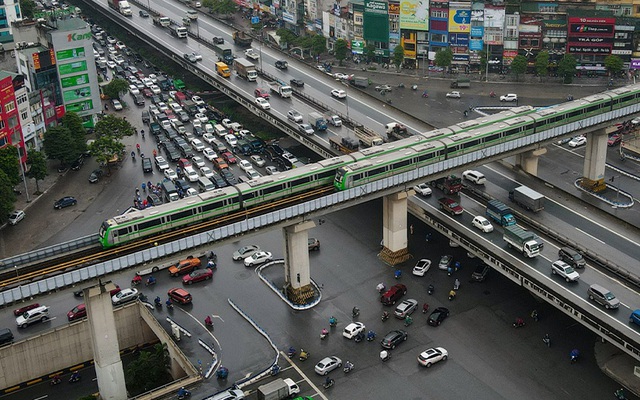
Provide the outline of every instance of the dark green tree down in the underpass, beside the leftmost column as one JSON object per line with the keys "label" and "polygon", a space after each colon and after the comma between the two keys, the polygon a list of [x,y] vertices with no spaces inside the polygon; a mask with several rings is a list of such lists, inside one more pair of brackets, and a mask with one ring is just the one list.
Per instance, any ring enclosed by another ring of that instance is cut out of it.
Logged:
{"label": "dark green tree down in the underpass, beside the leftmost column", "polygon": [[164,343],[153,346],[153,351],[141,351],[126,369],[127,391],[135,396],[171,381],[170,362]]}

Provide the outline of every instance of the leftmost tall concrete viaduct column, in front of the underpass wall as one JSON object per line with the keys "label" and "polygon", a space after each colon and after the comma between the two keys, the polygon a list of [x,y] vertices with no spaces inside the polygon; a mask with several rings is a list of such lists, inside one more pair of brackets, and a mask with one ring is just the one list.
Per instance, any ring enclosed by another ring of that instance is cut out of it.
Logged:
{"label": "leftmost tall concrete viaduct column, in front of the underpass wall", "polygon": [[96,287],[85,289],[84,299],[100,398],[126,400],[124,369],[120,360],[120,347],[109,294],[115,288],[113,283],[100,283]]}

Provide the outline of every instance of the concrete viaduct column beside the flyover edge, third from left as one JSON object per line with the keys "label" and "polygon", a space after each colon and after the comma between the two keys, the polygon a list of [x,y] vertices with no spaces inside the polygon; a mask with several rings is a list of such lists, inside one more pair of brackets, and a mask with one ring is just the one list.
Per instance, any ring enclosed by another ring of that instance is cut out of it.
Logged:
{"label": "concrete viaduct column beside the flyover edge, third from left", "polygon": [[382,239],[384,248],[380,258],[398,265],[409,259],[407,241],[407,197],[413,192],[398,192],[385,196],[382,210]]}

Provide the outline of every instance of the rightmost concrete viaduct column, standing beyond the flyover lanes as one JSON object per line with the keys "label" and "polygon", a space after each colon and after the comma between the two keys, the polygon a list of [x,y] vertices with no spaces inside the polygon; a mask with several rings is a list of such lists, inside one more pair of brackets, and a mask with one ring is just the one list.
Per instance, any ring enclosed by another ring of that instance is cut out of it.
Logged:
{"label": "rightmost concrete viaduct column, standing beyond the flyover lanes", "polygon": [[604,169],[607,162],[607,139],[609,133],[615,132],[615,127],[599,129],[587,134],[587,149],[584,155],[584,165],[580,186],[594,192],[601,192],[607,188],[604,182]]}

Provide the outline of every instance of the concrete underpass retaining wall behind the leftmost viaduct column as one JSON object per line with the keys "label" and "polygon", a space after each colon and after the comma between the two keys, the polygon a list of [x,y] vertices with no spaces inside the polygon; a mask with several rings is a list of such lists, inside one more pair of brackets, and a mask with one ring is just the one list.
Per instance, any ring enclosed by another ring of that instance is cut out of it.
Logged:
{"label": "concrete underpass retaining wall behind the leftmost viaduct column", "polygon": [[[142,306],[133,303],[114,310],[120,349],[157,339],[141,317],[139,307]],[[89,335],[89,324],[82,320],[1,348],[0,387],[11,387],[92,360]]]}

